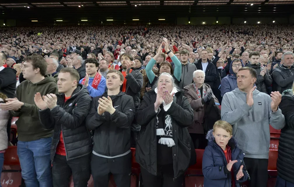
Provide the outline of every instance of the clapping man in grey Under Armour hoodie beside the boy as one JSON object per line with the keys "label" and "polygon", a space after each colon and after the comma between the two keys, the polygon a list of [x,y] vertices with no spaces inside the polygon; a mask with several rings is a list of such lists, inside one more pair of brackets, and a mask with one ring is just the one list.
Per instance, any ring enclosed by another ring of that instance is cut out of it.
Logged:
{"label": "clapping man in grey Under Armour hoodie beside the boy", "polygon": [[[238,88],[225,93],[221,119],[232,124],[233,136],[245,154],[244,162],[251,187],[266,187],[268,181],[269,124],[275,129],[285,126],[285,117],[278,108],[279,92],[268,94],[256,90],[257,73],[243,67],[237,73]],[[254,86],[254,87],[253,87]]]}

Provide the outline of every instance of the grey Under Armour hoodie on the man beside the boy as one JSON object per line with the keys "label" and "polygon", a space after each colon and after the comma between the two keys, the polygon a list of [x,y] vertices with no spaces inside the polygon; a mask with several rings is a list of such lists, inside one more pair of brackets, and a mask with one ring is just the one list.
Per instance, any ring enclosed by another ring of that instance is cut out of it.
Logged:
{"label": "grey Under Armour hoodie on the man beside the boy", "polygon": [[282,129],[285,116],[280,108],[272,112],[268,94],[253,91],[253,105],[246,103],[246,93],[236,88],[225,93],[221,103],[221,119],[233,127],[233,136],[248,158],[266,158],[270,148],[270,126]]}

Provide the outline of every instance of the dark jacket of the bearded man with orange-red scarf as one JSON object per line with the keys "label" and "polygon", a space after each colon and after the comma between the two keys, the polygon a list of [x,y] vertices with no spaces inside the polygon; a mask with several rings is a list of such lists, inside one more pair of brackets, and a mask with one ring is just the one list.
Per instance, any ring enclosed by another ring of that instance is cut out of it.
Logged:
{"label": "dark jacket of the bearded man with orange-red scarf", "polygon": [[[122,69],[120,70],[122,71]],[[126,94],[133,97],[134,104],[136,108],[140,106],[140,91],[143,85],[143,75],[140,70],[132,68],[132,72],[129,73],[125,79],[126,83]],[[121,85],[121,91],[123,89],[123,85]]]}

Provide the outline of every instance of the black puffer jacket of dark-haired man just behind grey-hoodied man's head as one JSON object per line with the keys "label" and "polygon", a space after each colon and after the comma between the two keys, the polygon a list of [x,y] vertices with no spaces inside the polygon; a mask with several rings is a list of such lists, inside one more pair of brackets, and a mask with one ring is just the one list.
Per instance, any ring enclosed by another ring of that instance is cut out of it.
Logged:
{"label": "black puffer jacket of dark-haired man just behind grey-hoodied man's head", "polygon": [[248,62],[246,64],[247,67],[253,68],[255,69],[256,73],[257,73],[257,79],[255,82],[256,85],[256,89],[260,92],[266,93],[267,94],[267,90],[266,88],[270,87],[271,84],[273,83],[272,77],[270,76],[270,71],[267,71],[267,73],[262,76],[260,75],[261,72],[261,64],[250,64],[250,62]]}

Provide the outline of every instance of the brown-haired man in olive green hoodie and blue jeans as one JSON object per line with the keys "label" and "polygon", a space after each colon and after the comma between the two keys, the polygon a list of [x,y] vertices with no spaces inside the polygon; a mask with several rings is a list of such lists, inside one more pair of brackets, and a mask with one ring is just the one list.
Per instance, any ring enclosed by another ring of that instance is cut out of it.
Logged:
{"label": "brown-haired man in olive green hoodie and blue jeans", "polygon": [[26,186],[52,187],[50,146],[53,129],[42,128],[34,95],[37,92],[42,96],[58,94],[58,88],[55,79],[46,75],[45,59],[41,56],[28,56],[24,61],[21,71],[26,80],[17,87],[14,98],[1,103],[0,108],[19,117],[16,121],[17,154]]}

